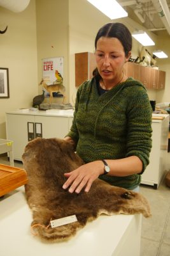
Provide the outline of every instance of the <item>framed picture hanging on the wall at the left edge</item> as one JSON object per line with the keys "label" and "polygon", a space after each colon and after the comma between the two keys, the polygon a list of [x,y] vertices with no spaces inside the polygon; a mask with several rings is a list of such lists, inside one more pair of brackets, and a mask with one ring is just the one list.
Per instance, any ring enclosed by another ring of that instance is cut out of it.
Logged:
{"label": "framed picture hanging on the wall at the left edge", "polygon": [[0,68],[0,98],[10,98],[8,68]]}

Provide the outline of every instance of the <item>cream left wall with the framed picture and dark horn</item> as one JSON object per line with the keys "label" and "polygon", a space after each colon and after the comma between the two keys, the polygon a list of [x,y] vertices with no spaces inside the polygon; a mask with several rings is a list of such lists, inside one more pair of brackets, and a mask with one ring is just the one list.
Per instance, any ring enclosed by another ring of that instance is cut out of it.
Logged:
{"label": "cream left wall with the framed picture and dark horn", "polygon": [[4,139],[5,112],[30,107],[38,94],[35,1],[21,13],[0,7],[0,28],[7,25],[0,35],[0,67],[9,68],[10,81],[10,98],[0,99],[0,138]]}

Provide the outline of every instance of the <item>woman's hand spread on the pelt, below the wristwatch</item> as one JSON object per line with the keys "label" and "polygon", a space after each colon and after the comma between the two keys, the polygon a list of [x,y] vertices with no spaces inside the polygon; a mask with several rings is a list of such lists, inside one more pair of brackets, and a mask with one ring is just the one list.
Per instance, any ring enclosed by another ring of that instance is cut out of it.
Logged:
{"label": "woman's hand spread on the pelt, below the wristwatch", "polygon": [[91,163],[83,164],[73,172],[64,173],[67,181],[62,188],[67,189],[69,192],[80,193],[81,189],[85,187],[85,192],[89,192],[92,182],[96,180],[99,175],[104,173],[102,161],[94,161]]}

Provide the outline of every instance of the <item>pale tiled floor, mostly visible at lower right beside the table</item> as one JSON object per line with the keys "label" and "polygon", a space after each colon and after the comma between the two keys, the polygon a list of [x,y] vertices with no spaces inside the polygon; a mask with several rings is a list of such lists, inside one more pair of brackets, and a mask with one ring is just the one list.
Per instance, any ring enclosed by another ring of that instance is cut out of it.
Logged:
{"label": "pale tiled floor, mostly visible at lower right beside the table", "polygon": [[[170,169],[170,152],[168,155],[167,166]],[[9,164],[8,157],[0,155],[0,163]],[[15,161],[15,166],[22,167],[22,163]],[[141,186],[140,193],[148,199],[152,211],[151,218],[143,218],[140,256],[169,256],[170,188],[167,188],[165,180],[162,180],[157,190],[151,186]]]}

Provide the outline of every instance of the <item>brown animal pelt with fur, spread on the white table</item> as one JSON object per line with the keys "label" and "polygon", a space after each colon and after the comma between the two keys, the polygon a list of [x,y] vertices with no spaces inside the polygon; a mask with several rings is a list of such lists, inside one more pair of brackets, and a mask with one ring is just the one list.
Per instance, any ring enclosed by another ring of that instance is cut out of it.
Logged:
{"label": "brown animal pelt with fur, spread on the white table", "polygon": [[[150,207],[139,193],[118,188],[97,179],[89,193],[79,195],[62,189],[66,181],[64,173],[78,168],[83,161],[73,150],[71,143],[59,139],[37,138],[28,143],[22,156],[28,183],[25,193],[33,212],[31,225],[36,225],[38,235],[46,240],[67,239],[87,221],[100,214],[136,214],[150,216]],[[50,220],[76,215],[78,221],[56,228],[43,228]]]}

